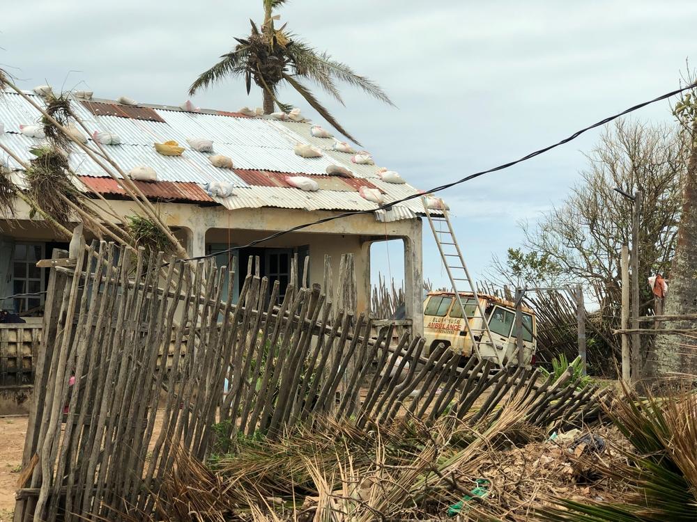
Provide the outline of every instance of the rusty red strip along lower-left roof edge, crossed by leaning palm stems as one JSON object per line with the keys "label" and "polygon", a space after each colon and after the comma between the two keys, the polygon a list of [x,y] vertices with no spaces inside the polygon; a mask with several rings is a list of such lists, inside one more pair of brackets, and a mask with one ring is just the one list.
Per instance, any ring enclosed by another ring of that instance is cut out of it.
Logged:
{"label": "rusty red strip along lower-left roof edge, crossed by leaning palm stems", "polygon": [[[87,189],[102,195],[126,196],[126,191],[121,184],[111,177],[80,176]],[[188,182],[142,182],[134,181],[144,196],[152,199],[169,201],[190,201],[196,203],[215,203],[204,189],[196,183]]]}

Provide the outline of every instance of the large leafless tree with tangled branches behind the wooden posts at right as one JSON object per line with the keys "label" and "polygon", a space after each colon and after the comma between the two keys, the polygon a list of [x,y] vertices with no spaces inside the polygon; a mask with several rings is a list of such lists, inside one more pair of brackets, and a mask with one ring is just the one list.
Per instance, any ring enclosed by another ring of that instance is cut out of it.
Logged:
{"label": "large leafless tree with tangled branches behind the wooden posts at right", "polygon": [[[505,262],[494,260],[494,269],[514,284],[520,283],[521,274],[538,283],[583,283],[602,310],[615,314],[621,296],[620,249],[629,244],[631,204],[614,189],[643,190],[641,278],[666,273],[675,251],[687,145],[675,127],[616,122],[586,155],[588,168],[569,196],[535,225],[521,223],[523,250],[535,254],[530,258],[539,269],[519,249],[511,249]],[[642,301],[647,301],[648,285],[644,292]]]}

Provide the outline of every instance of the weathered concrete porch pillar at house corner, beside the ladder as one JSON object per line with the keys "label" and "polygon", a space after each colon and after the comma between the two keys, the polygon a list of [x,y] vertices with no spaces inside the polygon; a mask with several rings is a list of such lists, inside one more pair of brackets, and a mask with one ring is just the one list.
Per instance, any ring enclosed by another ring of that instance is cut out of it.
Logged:
{"label": "weathered concrete porch pillar at house corner, beside the ladder", "polygon": [[424,263],[423,227],[415,220],[408,237],[404,237],[404,299],[406,317],[413,321],[414,335],[424,335]]}

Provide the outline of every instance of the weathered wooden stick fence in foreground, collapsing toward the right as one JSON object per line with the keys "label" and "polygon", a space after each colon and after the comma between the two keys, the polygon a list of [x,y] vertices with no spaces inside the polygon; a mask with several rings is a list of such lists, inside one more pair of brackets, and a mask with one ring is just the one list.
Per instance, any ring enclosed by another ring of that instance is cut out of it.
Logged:
{"label": "weathered wooden stick fence in foreground, collapsing toward the right", "polygon": [[372,317],[333,310],[327,287],[291,284],[275,306],[278,284],[250,270],[235,306],[221,300],[227,268],[213,260],[171,259],[163,273],[161,253],[131,260],[103,242],[80,256],[51,269],[16,522],[147,511],[177,448],[205,459],[221,439],[299,423],[475,423],[512,395],[539,427],[599,411],[601,394],[570,374],[538,382],[442,347],[426,358],[422,338],[393,341],[394,325],[371,338]]}

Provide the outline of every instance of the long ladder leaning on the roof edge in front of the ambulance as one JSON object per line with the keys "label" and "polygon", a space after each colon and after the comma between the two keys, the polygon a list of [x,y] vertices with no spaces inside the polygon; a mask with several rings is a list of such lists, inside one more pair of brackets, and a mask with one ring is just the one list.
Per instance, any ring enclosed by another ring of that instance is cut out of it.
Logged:
{"label": "long ladder leaning on the roof edge in front of the ambulance", "polygon": [[[472,340],[472,348],[477,358],[481,359],[482,354],[480,353],[480,345],[491,345],[493,353],[496,354],[496,362],[500,367],[503,367],[503,361],[498,349],[496,347],[496,342],[493,341],[493,336],[491,335],[491,330],[489,330],[489,323],[487,323],[487,317],[484,315],[484,310],[482,309],[482,303],[480,303],[479,296],[477,295],[477,289],[470,276],[470,271],[467,269],[465,260],[462,257],[462,251],[460,250],[459,244],[457,244],[457,239],[455,239],[455,232],[452,230],[452,224],[450,223],[450,217],[447,214],[447,210],[443,208],[443,217],[434,216],[429,210],[426,198],[422,198],[422,203],[424,205],[424,210],[426,211],[426,216],[429,219],[429,225],[434,233],[434,238],[436,239],[436,245],[438,245],[438,251],[441,253],[441,259],[443,260],[443,266],[447,272],[448,278],[450,278],[450,284],[452,285],[452,291],[454,292],[456,299],[455,301],[460,306],[460,311],[462,317],[465,321],[465,328],[470,335],[470,340]],[[450,251],[447,249],[450,248]],[[453,271],[455,271],[453,273]],[[475,303],[477,305],[477,315],[468,318],[465,313],[465,306],[462,302],[462,297],[460,292],[465,285],[469,286],[469,292],[473,295]],[[468,319],[476,319],[477,317],[482,318],[481,329],[473,329],[470,326]],[[475,338],[479,336],[479,339]]]}

